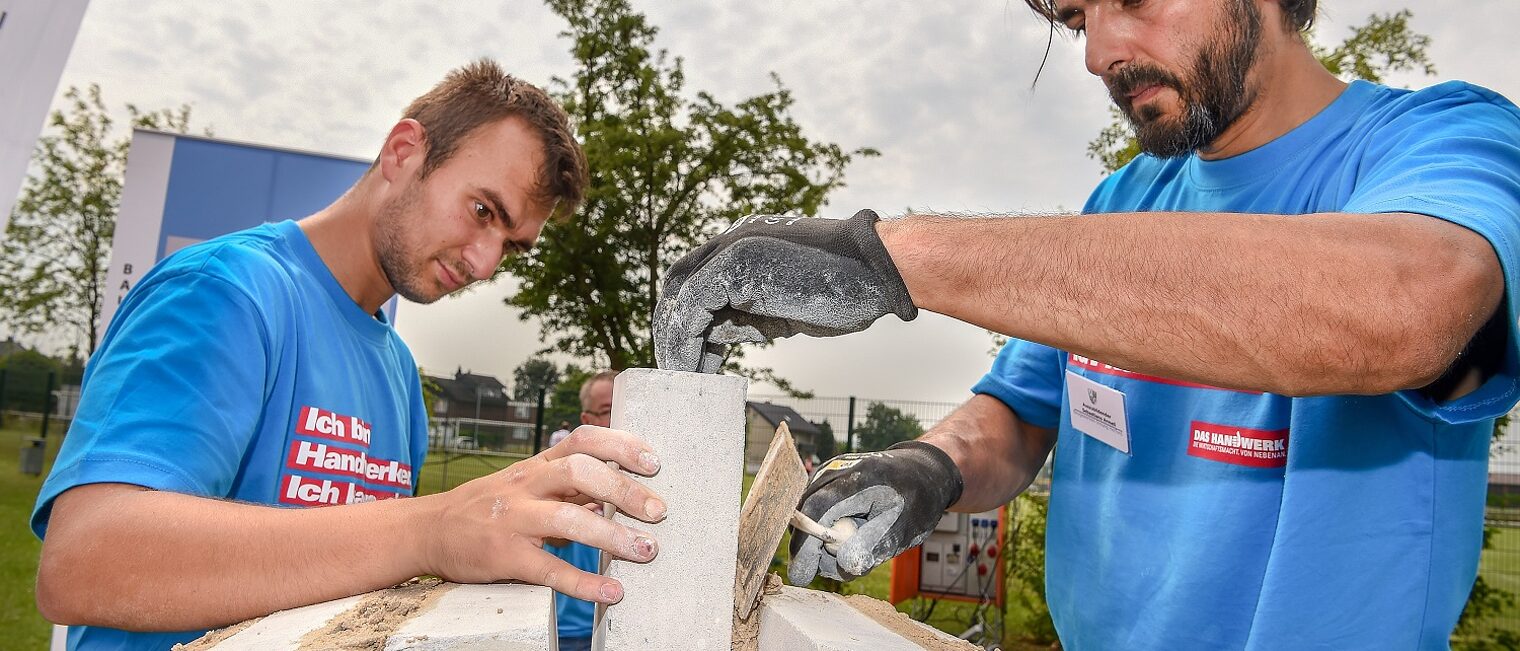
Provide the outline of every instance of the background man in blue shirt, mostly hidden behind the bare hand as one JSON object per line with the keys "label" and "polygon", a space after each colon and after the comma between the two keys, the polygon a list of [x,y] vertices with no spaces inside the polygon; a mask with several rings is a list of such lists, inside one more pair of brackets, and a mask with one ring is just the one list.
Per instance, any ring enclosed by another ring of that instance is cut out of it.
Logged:
{"label": "background man in blue shirt, mostly hidden behind the bare hand", "polygon": [[[617,371],[600,371],[587,377],[581,383],[581,424],[593,427],[613,426],[613,380]],[[568,424],[568,423],[567,423]],[[576,430],[596,435],[596,429]],[[561,437],[561,441],[568,438]],[[558,446],[559,443],[555,441]],[[570,563],[576,569],[599,573],[602,554],[599,549],[573,540],[549,540],[544,551]],[[555,592],[555,625],[558,628],[559,651],[588,651],[591,648],[593,624],[596,622],[596,604],[576,599],[570,595]]]}

